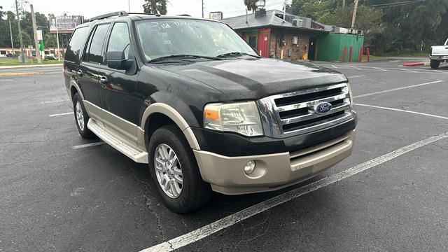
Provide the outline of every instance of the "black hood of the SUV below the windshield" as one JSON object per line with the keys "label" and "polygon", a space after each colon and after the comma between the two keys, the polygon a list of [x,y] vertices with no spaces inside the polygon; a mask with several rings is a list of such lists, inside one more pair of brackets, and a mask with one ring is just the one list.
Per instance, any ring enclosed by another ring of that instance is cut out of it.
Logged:
{"label": "black hood of the SUV below the windshield", "polygon": [[232,99],[260,99],[276,93],[347,81],[344,74],[332,69],[277,59],[226,59],[158,64],[158,67],[214,87]]}

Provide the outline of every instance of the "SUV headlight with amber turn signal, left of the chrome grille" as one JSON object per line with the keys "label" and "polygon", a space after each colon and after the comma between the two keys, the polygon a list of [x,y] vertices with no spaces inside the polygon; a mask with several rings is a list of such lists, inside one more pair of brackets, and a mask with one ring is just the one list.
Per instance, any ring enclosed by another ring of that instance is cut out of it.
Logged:
{"label": "SUV headlight with amber turn signal, left of the chrome grille", "polygon": [[204,108],[204,127],[222,132],[237,132],[247,137],[263,135],[255,102],[207,104]]}

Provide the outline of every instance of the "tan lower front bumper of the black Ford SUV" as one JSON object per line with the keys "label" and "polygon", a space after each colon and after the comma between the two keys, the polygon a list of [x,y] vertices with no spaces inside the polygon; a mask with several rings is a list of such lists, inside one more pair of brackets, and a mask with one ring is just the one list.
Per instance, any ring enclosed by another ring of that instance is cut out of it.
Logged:
{"label": "tan lower front bumper of the black Ford SUV", "polygon": [[[355,130],[321,144],[295,152],[229,157],[193,150],[202,179],[211,188],[226,195],[278,190],[320,174],[351,154]],[[252,174],[244,165],[255,160]]]}

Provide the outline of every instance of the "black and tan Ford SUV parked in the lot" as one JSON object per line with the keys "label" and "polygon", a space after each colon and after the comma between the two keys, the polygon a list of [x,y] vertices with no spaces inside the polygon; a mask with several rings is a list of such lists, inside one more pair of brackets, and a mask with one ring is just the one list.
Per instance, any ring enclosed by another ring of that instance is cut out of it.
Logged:
{"label": "black and tan Ford SUV parked in the lot", "polygon": [[76,28],[65,85],[82,137],[148,163],[167,206],[310,179],[351,154],[342,73],[260,57],[228,25],[120,11]]}

